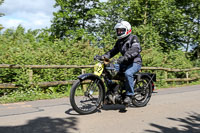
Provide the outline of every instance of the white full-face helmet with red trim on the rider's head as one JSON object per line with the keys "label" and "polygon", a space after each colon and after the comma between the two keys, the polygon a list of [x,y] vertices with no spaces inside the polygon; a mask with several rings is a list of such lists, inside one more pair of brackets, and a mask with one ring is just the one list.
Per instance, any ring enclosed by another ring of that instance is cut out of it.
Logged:
{"label": "white full-face helmet with red trim on the rider's head", "polygon": [[[131,34],[131,25],[127,21],[121,21],[120,23],[117,23],[115,25],[114,29],[117,32],[118,39],[122,39],[122,38],[128,36],[129,34]],[[119,33],[118,29],[121,29],[122,31]]]}

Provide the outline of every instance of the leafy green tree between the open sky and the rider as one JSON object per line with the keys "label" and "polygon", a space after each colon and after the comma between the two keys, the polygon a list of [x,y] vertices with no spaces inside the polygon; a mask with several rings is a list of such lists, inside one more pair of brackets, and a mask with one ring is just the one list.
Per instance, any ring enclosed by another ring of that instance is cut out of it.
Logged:
{"label": "leafy green tree between the open sky and the rider", "polygon": [[85,32],[96,27],[96,18],[101,10],[99,0],[56,0],[51,32],[54,38],[82,38]]}

